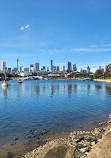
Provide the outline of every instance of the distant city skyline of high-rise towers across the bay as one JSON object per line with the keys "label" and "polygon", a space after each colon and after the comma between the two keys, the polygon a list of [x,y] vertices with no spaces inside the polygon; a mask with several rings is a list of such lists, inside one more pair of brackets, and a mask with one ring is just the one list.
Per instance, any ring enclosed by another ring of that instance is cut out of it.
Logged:
{"label": "distant city skyline of high-rise towers across the bay", "polygon": [[[40,67],[40,63],[38,62],[34,62],[33,64],[30,64],[30,66],[27,66],[27,67],[24,67],[24,66],[18,66],[18,62],[19,62],[19,59],[17,58],[17,66],[16,67],[13,67],[13,68],[10,68],[10,67],[7,67],[6,65],[6,62],[5,61],[2,61],[1,63],[1,71],[5,71],[7,70],[7,72],[38,72],[38,71],[69,71],[69,72],[83,72],[83,73],[94,73],[93,71],[91,71],[91,67],[89,65],[87,65],[87,67],[82,67],[80,70],[78,70],[77,68],[77,65],[68,61],[67,62],[67,66],[64,66],[62,65],[61,67],[59,67],[58,65],[54,65],[53,63],[53,60],[51,59],[50,60],[50,66],[49,67],[46,67],[45,65],[44,66],[41,66]],[[98,68],[96,70],[101,70],[101,71],[105,71],[106,70],[106,66],[105,65],[104,67],[99,65]]]}

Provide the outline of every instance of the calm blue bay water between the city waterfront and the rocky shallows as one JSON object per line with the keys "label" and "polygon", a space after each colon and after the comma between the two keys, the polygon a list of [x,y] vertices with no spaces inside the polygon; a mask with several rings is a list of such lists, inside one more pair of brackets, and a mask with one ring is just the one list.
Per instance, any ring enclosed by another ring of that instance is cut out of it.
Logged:
{"label": "calm blue bay water between the city waterfront and the rocky shallows", "polygon": [[78,80],[9,81],[7,88],[1,84],[1,154],[9,151],[8,145],[11,150],[10,138],[32,129],[82,130],[111,113],[110,84]]}

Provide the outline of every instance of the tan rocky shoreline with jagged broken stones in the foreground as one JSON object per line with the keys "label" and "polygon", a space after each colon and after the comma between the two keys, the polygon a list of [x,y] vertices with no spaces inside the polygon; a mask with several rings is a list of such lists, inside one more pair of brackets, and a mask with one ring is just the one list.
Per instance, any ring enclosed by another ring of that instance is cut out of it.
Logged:
{"label": "tan rocky shoreline with jagged broken stones in the foreground", "polygon": [[107,122],[100,123],[91,131],[71,132],[67,138],[49,141],[21,158],[87,158],[89,155],[91,158],[90,153],[94,146],[98,145],[105,135],[111,134],[110,122],[111,115]]}

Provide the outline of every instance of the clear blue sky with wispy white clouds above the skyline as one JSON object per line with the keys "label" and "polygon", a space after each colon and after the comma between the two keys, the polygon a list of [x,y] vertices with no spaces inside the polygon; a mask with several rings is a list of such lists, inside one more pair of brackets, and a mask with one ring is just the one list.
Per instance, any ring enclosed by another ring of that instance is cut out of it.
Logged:
{"label": "clear blue sky with wispy white clouds above the skyline", "polygon": [[111,0],[1,1],[0,62],[104,66],[111,62],[110,8]]}

